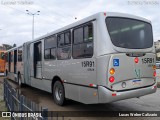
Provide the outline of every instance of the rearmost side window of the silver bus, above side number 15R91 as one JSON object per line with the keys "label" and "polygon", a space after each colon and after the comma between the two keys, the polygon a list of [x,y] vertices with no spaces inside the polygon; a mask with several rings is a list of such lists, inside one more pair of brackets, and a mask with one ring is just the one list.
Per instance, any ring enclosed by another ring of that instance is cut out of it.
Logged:
{"label": "rearmost side window of the silver bus, above side number 15R91", "polygon": [[[82,33],[84,33],[84,35]],[[84,27],[73,30],[73,36],[74,36],[73,52],[72,52],[73,58],[80,59],[80,58],[92,57],[93,56],[92,24],[87,24]]]}

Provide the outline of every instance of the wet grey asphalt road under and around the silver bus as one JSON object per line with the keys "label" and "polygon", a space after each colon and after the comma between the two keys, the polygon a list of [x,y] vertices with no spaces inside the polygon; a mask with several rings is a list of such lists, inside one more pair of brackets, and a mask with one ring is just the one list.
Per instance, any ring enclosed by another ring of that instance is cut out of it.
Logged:
{"label": "wet grey asphalt road under and around the silver bus", "polygon": [[[2,77],[0,78],[2,80]],[[53,97],[50,93],[25,86],[19,88],[18,85],[12,81],[9,83],[14,87],[20,94],[24,95],[33,102],[36,102],[40,106],[47,107],[49,111],[160,111],[160,88],[154,94],[146,95],[140,98],[132,98],[128,100],[122,100],[108,104],[96,104],[96,105],[85,105],[72,100],[68,100],[67,105],[60,107],[53,102]],[[65,118],[66,120],[106,120],[104,117],[71,117]],[[119,118],[107,118],[110,120],[160,120],[160,117],[119,117]]]}

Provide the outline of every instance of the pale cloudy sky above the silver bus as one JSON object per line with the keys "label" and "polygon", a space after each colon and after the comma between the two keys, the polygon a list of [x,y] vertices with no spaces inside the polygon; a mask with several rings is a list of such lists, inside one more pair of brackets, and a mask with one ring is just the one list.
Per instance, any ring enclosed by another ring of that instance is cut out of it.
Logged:
{"label": "pale cloudy sky above the silver bus", "polygon": [[[152,22],[154,41],[160,40],[160,0],[0,0],[0,45],[17,44],[74,23],[98,12],[137,15]],[[75,19],[77,18],[77,19]]]}

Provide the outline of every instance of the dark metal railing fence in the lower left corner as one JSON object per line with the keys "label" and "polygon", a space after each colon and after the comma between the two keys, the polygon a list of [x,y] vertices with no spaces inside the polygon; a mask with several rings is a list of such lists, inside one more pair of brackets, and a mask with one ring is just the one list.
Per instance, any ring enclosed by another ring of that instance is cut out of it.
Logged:
{"label": "dark metal railing fence in the lower left corner", "polygon": [[[11,112],[11,120],[48,120],[46,117],[47,108],[42,108],[35,102],[25,98],[25,96],[18,94],[18,92],[4,79],[4,101],[8,111]],[[13,112],[15,115],[13,115]],[[27,113],[40,113],[42,117],[24,117]],[[18,114],[20,113],[20,114]],[[25,113],[25,114],[23,114]]]}

